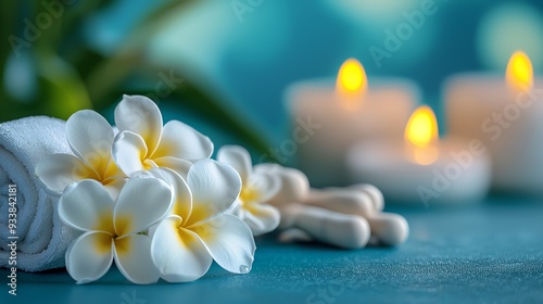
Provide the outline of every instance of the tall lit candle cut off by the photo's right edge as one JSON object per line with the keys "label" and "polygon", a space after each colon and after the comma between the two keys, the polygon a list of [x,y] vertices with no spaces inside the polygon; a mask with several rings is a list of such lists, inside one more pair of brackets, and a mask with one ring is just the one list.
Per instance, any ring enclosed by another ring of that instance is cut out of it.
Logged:
{"label": "tall lit candle cut off by the photo's right edge", "polygon": [[445,85],[449,130],[479,139],[492,157],[492,186],[543,194],[543,79],[515,52],[500,75],[468,74]]}

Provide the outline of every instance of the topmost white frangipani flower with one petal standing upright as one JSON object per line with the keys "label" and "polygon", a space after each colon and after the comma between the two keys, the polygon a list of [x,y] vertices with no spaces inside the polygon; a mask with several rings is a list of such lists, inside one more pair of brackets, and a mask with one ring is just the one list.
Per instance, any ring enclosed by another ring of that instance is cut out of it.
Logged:
{"label": "topmost white frangipani flower with one petal standing upright", "polygon": [[162,126],[162,114],[147,97],[124,96],[115,109],[119,134],[113,157],[128,176],[153,167],[186,174],[190,165],[213,153],[213,142],[178,121]]}

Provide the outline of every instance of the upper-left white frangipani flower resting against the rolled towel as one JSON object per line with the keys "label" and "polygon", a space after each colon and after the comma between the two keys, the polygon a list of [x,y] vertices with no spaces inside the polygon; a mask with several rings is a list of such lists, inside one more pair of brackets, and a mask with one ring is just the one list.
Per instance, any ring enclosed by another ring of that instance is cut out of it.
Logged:
{"label": "upper-left white frangipani flower resting against the rolled towel", "polygon": [[66,122],[66,138],[74,155],[53,154],[36,166],[36,176],[50,194],[61,195],[72,182],[94,179],[115,198],[125,183],[125,175],[111,156],[113,128],[94,111],[74,113]]}

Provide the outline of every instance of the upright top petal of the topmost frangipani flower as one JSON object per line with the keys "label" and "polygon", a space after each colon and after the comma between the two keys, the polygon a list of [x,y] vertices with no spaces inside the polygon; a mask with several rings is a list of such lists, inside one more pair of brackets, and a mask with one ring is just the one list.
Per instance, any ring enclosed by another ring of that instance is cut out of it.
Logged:
{"label": "upright top petal of the topmost frangipani flower", "polygon": [[152,100],[143,96],[123,96],[115,107],[115,124],[121,132],[129,130],[143,139],[149,149],[144,157],[153,154],[161,140],[162,114]]}

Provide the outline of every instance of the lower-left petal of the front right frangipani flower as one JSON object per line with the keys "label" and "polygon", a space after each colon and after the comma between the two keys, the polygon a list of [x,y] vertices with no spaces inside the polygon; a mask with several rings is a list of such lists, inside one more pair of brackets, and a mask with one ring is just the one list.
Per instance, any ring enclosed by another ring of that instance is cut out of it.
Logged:
{"label": "lower-left petal of the front right frangipani flower", "polygon": [[200,238],[179,225],[178,217],[164,219],[156,227],[151,244],[154,265],[168,282],[199,279],[213,262]]}

